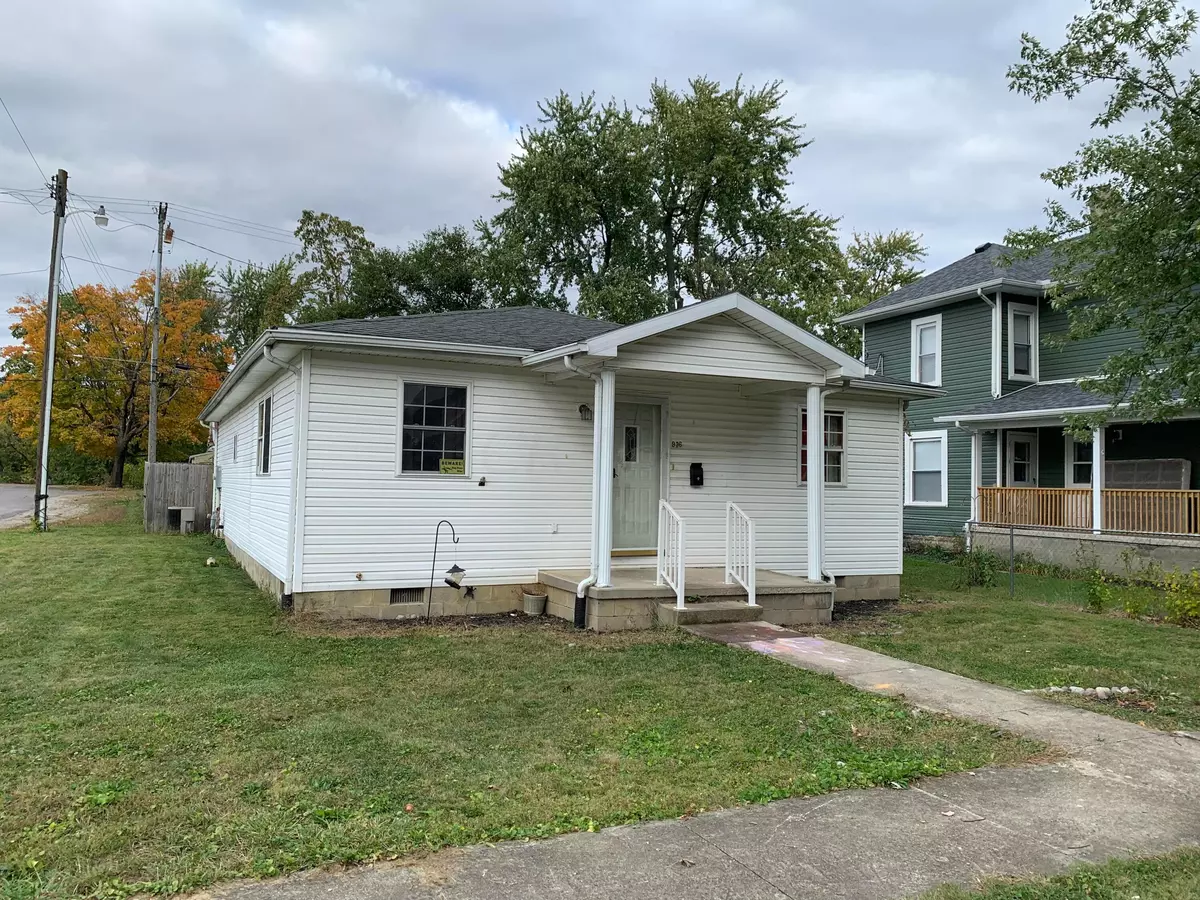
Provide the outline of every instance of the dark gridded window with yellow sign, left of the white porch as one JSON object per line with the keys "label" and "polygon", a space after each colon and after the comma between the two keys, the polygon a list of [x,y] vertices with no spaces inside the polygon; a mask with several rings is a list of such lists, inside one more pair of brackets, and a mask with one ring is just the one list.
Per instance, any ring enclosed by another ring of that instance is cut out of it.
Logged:
{"label": "dark gridded window with yellow sign, left of the white porch", "polygon": [[466,475],[467,389],[406,382],[401,390],[401,473]]}

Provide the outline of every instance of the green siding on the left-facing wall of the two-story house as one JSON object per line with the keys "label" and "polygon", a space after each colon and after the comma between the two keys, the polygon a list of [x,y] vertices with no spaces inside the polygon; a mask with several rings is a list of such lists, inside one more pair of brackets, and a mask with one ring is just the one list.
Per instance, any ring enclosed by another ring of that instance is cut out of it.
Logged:
{"label": "green siding on the left-facing wall of the two-story house", "polygon": [[[907,534],[958,534],[971,517],[971,436],[934,419],[961,413],[991,400],[991,308],[977,298],[928,312],[868,323],[865,329],[868,361],[877,365],[882,354],[883,374],[908,378],[912,320],[935,313],[942,316],[942,388],[947,390],[947,396],[911,402],[908,430],[947,432],[947,505],[906,506],[904,524]],[[983,484],[991,484],[995,479],[995,439],[991,443],[985,439]]]}

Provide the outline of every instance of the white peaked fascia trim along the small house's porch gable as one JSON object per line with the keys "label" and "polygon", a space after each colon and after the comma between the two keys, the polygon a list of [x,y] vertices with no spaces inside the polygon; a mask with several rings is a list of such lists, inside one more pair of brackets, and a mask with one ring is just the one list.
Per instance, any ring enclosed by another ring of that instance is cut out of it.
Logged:
{"label": "white peaked fascia trim along the small house's porch gable", "polygon": [[566,356],[577,353],[583,353],[589,356],[616,356],[617,350],[622,344],[642,341],[647,337],[661,335],[665,331],[671,331],[677,328],[683,328],[684,325],[690,325],[695,322],[702,322],[714,316],[732,312],[733,310],[761,322],[763,325],[773,331],[778,331],[787,340],[794,341],[802,347],[806,347],[812,350],[821,358],[829,360],[830,366],[827,368],[840,368],[841,372],[839,374],[857,378],[862,378],[866,374],[866,366],[860,360],[854,359],[848,353],[839,350],[832,343],[822,341],[816,335],[805,331],[798,325],[785,319],[782,316],[772,312],[767,307],[756,304],[754,300],[748,296],[743,296],[742,294],[725,294],[724,296],[713,298],[712,300],[701,300],[700,302],[689,304],[682,310],[674,310],[672,312],[664,313],[662,316],[655,316],[652,319],[637,322],[632,325],[626,325],[625,328],[619,328],[613,331],[598,335],[588,341],[580,341],[574,344],[565,344],[551,350],[545,350],[544,353],[530,354],[529,356],[526,356],[522,362],[527,366],[536,366],[541,362],[554,359],[556,356]]}

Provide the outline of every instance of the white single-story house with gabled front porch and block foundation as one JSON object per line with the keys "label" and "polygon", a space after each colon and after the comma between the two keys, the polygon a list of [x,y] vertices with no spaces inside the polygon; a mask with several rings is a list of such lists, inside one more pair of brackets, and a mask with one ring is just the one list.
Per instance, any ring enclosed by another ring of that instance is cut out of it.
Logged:
{"label": "white single-story house with gabled front porch and block foundation", "polygon": [[552,614],[618,629],[898,596],[905,404],[938,394],[730,294],[626,326],[515,307],[271,329],[203,419],[218,526],[284,605],[502,612],[540,581]]}

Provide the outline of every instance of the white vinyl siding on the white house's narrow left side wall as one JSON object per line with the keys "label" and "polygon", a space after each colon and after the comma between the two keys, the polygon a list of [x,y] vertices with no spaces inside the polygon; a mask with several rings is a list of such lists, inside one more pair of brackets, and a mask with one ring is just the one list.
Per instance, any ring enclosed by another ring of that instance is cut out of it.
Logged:
{"label": "white vinyl siding on the white house's narrow left side wall", "polygon": [[[259,409],[268,396],[271,397],[270,475],[264,476],[259,474],[256,450]],[[217,428],[216,464],[221,468],[224,533],[280,581],[288,580],[295,404],[296,378],[287,372],[242,403]],[[247,446],[251,451],[246,451]]]}

